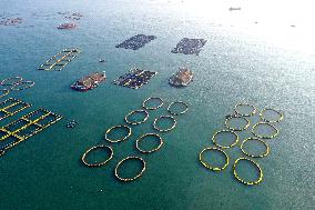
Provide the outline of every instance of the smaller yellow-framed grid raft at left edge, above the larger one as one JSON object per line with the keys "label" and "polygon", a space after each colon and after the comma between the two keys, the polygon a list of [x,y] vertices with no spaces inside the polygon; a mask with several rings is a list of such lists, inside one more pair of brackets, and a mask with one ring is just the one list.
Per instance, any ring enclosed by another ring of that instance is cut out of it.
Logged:
{"label": "smaller yellow-framed grid raft at left edge, above the larger one", "polygon": [[13,116],[31,106],[32,104],[20,101],[19,99],[9,98],[0,102],[0,120]]}

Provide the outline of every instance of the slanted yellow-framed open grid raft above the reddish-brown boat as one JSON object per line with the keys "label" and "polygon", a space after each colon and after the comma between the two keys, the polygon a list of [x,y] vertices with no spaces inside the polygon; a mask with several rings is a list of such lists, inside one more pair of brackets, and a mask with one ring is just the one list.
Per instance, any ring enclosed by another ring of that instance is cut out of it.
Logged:
{"label": "slanted yellow-framed open grid raft above the reddish-brown boat", "polygon": [[43,64],[41,64],[38,70],[52,71],[62,70],[69,62],[72,61],[81,51],[78,48],[64,49],[55,56],[48,59]]}

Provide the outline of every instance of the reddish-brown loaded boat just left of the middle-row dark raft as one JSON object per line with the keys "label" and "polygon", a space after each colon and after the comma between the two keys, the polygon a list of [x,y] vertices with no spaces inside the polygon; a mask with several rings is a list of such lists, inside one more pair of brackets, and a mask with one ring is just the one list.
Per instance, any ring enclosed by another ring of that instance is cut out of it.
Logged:
{"label": "reddish-brown loaded boat just left of the middle-row dark raft", "polygon": [[79,91],[88,91],[99,87],[100,82],[105,81],[106,74],[103,72],[93,72],[74,82],[71,88]]}

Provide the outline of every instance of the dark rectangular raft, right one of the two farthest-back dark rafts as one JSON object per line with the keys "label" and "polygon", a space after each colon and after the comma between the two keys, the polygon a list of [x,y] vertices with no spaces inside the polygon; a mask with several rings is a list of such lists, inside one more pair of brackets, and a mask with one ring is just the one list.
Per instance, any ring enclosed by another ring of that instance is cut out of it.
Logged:
{"label": "dark rectangular raft, right one of the two farthest-back dark rafts", "polygon": [[183,38],[176,48],[172,50],[173,53],[196,54],[199,56],[206,40],[204,39],[189,39]]}

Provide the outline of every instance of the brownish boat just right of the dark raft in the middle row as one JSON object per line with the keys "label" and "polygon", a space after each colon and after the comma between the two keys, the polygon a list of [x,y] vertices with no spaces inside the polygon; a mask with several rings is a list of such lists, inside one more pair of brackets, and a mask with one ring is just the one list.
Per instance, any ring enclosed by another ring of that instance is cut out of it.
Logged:
{"label": "brownish boat just right of the dark raft in the middle row", "polygon": [[187,68],[180,68],[170,79],[169,83],[175,87],[186,87],[193,80],[193,72]]}

